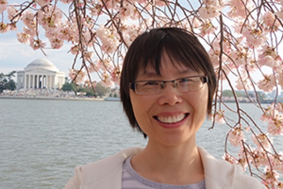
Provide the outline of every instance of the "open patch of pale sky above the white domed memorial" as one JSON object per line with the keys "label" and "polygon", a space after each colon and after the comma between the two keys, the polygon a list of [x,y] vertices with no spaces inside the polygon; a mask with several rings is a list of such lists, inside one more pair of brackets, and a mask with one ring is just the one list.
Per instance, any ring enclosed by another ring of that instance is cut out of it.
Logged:
{"label": "open patch of pale sky above the white domed memorial", "polygon": [[64,45],[60,49],[46,49],[45,56],[41,50],[33,50],[29,44],[20,43],[17,40],[17,32],[19,31],[0,33],[0,73],[24,70],[33,60],[44,58],[67,76],[74,59],[71,53],[67,53],[69,45]]}

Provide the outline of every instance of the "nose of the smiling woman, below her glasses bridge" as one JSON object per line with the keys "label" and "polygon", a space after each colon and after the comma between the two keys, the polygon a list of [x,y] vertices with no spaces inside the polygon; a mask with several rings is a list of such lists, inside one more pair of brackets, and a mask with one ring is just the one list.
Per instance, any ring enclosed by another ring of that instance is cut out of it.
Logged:
{"label": "nose of the smiling woman, below her glasses bridge", "polygon": [[165,84],[165,88],[159,97],[160,105],[170,105],[174,106],[175,104],[182,102],[182,97],[175,87],[175,83]]}

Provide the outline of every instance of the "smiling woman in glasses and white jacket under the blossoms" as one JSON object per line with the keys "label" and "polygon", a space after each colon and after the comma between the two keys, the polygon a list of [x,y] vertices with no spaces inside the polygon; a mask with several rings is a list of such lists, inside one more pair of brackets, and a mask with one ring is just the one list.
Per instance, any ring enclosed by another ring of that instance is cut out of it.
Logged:
{"label": "smiling woman in glasses and white jacket under the blossoms", "polygon": [[125,56],[120,93],[148,144],[77,167],[65,188],[265,188],[196,146],[215,91],[214,68],[191,33],[159,28],[138,36]]}

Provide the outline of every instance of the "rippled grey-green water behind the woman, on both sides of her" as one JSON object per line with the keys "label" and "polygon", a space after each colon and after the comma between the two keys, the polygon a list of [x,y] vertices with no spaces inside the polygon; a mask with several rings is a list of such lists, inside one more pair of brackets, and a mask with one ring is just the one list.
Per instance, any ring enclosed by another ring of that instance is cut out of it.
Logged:
{"label": "rippled grey-green water behind the woman, on both sides of her", "polygon": [[[261,114],[242,106],[252,117]],[[0,107],[1,189],[63,188],[76,166],[147,142],[132,131],[120,102],[0,99]],[[210,126],[206,120],[197,143],[221,158],[229,128]]]}

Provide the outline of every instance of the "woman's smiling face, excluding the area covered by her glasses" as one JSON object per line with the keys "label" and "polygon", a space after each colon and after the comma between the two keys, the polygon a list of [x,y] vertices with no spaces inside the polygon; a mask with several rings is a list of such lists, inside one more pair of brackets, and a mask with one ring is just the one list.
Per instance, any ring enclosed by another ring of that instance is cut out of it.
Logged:
{"label": "woman's smiling face, excluding the area covered by her glasses", "polygon": [[[161,60],[161,76],[151,67],[140,71],[136,81],[171,81],[203,73],[172,65],[165,54]],[[130,89],[130,100],[139,127],[148,135],[149,144],[176,146],[195,142],[195,134],[206,117],[208,86],[180,92],[172,83],[166,83],[161,94],[138,95]],[[170,123],[171,122],[171,123]]]}

